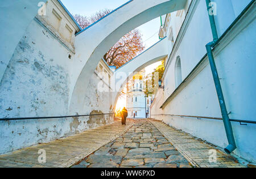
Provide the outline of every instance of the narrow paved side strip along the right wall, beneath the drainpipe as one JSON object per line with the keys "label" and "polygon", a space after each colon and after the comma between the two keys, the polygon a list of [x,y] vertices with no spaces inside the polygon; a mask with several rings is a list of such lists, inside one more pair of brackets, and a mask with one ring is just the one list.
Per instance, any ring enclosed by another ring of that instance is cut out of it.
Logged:
{"label": "narrow paved side strip along the right wall, beneath the drainpipe", "polygon": [[[241,163],[244,162],[240,164],[235,157],[218,150],[216,146],[174,129],[161,121],[150,121],[194,167],[244,168],[247,163],[240,159]],[[213,157],[215,154],[216,158]],[[209,161],[213,162],[209,163]]]}

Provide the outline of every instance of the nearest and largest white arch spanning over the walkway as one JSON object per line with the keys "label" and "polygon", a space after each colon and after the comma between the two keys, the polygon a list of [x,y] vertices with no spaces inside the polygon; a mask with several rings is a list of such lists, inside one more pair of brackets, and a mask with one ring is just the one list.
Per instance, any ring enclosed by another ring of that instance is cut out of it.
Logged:
{"label": "nearest and largest white arch spanning over the walkway", "polygon": [[129,1],[98,21],[76,37],[76,57],[73,64],[69,112],[82,113],[85,93],[90,74],[111,46],[123,35],[160,15],[184,8],[187,0],[133,0]]}

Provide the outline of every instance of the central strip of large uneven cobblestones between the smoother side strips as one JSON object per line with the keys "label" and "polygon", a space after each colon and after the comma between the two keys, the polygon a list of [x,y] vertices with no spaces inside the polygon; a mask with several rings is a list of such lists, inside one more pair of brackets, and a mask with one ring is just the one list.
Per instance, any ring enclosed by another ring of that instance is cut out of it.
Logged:
{"label": "central strip of large uneven cobblestones between the smoother side strips", "polygon": [[125,134],[74,168],[191,168],[188,161],[148,120],[137,120]]}

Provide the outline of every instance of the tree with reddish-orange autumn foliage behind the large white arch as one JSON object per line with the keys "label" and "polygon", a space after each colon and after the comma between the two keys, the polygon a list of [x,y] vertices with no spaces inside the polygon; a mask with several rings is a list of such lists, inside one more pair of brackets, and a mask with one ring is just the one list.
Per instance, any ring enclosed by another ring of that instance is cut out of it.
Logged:
{"label": "tree with reddish-orange autumn foliage behind the large white arch", "polygon": [[[84,29],[97,20],[103,18],[110,12],[110,10],[101,10],[89,18],[76,14],[74,15],[74,18],[76,19],[77,23],[79,23],[81,28]],[[141,53],[144,48],[141,33],[138,29],[134,29],[123,36],[114,46],[112,46],[112,48],[106,52],[103,59],[105,59],[109,66],[116,66],[118,69]]]}

